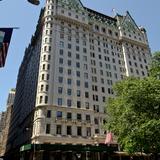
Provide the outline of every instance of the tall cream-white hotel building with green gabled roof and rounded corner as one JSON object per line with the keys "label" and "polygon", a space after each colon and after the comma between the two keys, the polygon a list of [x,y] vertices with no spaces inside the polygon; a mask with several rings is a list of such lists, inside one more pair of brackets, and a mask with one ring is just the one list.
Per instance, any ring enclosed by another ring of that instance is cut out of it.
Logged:
{"label": "tall cream-white hotel building with green gabled roof and rounded corner", "polygon": [[150,57],[129,12],[109,17],[79,0],[47,0],[19,70],[8,147],[104,143],[112,85],[148,76]]}

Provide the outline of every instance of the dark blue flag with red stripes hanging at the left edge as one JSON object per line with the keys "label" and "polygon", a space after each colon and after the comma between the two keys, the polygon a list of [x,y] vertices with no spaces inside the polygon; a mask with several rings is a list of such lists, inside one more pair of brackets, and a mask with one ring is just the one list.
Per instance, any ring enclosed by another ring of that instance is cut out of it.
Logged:
{"label": "dark blue flag with red stripes hanging at the left edge", "polygon": [[0,28],[0,68],[4,67],[13,28]]}

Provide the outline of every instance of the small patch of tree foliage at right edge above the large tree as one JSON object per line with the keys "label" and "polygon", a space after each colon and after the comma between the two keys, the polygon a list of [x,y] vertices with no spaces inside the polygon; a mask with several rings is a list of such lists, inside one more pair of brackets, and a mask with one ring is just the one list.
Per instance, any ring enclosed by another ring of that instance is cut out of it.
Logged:
{"label": "small patch of tree foliage at right edge above the large tree", "polygon": [[150,75],[160,79],[160,51],[153,53]]}

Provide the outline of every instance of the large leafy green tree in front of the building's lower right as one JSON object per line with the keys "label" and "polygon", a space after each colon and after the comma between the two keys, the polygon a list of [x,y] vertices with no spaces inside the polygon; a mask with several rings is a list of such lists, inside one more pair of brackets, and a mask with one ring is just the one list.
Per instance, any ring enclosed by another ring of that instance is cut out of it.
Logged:
{"label": "large leafy green tree in front of the building's lower right", "polygon": [[160,80],[127,78],[114,86],[106,105],[106,128],[129,153],[160,152]]}

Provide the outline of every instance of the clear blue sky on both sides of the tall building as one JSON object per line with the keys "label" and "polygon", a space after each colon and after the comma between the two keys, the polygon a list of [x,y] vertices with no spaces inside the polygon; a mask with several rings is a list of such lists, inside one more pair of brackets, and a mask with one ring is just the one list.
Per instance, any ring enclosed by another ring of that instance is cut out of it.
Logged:
{"label": "clear blue sky on both sides of the tall building", "polygon": [[[16,87],[17,74],[24,56],[24,50],[35,32],[41,8],[45,0],[34,6],[27,0],[0,1],[0,27],[19,27],[13,31],[6,65],[0,68],[0,111],[6,108],[9,90]],[[147,30],[151,52],[160,46],[160,0],[81,0],[85,7],[108,16],[114,16],[112,9],[125,15],[128,10],[138,26]]]}

